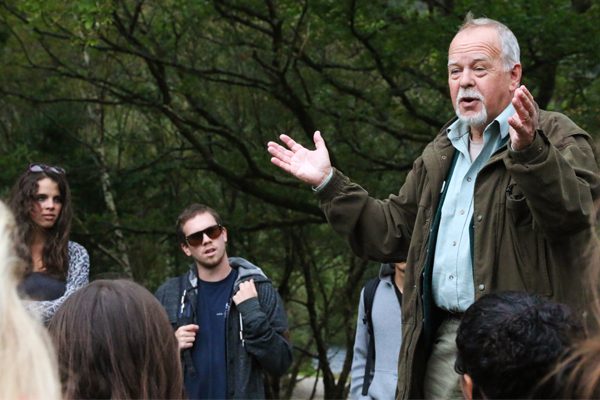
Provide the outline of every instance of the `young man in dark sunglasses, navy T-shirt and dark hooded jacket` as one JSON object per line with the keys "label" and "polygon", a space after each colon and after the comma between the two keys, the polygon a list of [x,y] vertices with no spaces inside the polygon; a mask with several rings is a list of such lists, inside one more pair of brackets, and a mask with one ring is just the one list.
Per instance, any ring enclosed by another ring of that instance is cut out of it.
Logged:
{"label": "young man in dark sunglasses, navy T-shirt and dark hooded jacket", "polygon": [[265,398],[263,373],[292,362],[279,294],[262,270],[227,256],[227,229],[215,210],[187,207],[177,240],[194,263],[156,292],[175,329],[190,399]]}

